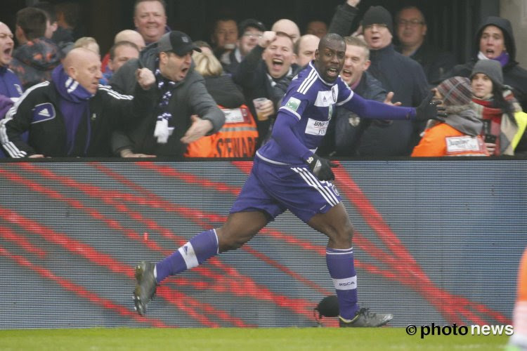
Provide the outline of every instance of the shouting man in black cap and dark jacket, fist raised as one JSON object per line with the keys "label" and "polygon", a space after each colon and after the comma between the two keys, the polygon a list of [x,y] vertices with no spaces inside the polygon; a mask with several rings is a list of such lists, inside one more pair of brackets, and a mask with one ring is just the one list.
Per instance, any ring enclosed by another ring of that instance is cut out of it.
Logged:
{"label": "shouting man in black cap and dark jacket, fist raised", "polygon": [[156,88],[150,95],[157,102],[137,127],[115,133],[112,143],[116,154],[183,157],[188,143],[216,133],[223,126],[223,112],[207,93],[203,77],[194,71],[193,51],[201,49],[187,34],[172,31],[114,74],[112,86],[129,93],[136,87],[136,69],[148,67],[155,72]]}

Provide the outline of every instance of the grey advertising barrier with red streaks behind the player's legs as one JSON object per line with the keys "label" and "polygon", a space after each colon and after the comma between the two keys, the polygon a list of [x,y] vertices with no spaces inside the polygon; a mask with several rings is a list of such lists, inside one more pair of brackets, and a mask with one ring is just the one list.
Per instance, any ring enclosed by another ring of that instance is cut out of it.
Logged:
{"label": "grey advertising barrier with red streaks behind the player's legs", "polygon": [[[527,160],[341,161],[360,304],[391,326],[511,324]],[[323,234],[286,212],[134,311],[134,265],[228,215],[251,162],[0,164],[0,329],[317,326]],[[337,326],[323,318],[323,326]]]}

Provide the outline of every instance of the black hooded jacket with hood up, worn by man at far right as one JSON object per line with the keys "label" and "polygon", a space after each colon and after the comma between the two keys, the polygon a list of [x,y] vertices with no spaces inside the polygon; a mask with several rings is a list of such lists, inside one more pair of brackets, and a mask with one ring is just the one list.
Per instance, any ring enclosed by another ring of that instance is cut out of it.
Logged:
{"label": "black hooded jacket with hood up, worn by man at far right", "polygon": [[512,25],[509,20],[505,18],[496,16],[489,16],[486,18],[476,32],[476,37],[474,37],[474,56],[463,65],[456,65],[445,75],[445,77],[443,77],[443,79],[455,76],[470,77],[474,65],[476,65],[476,62],[479,60],[478,53],[481,34],[483,33],[483,29],[489,25],[494,25],[502,29],[505,39],[505,48],[507,48],[507,53],[509,53],[509,62],[502,67],[503,78],[505,84],[512,87],[514,96],[520,103],[522,109],[527,110],[527,70],[520,67],[516,61],[516,42],[514,41]]}

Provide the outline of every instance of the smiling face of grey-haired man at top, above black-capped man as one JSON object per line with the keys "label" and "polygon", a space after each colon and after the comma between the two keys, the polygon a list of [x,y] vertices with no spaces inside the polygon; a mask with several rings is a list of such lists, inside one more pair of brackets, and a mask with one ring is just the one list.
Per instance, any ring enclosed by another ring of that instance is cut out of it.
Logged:
{"label": "smiling face of grey-haired man at top, above black-capped man", "polygon": [[134,6],[134,25],[145,44],[158,41],[169,32],[167,27],[167,4],[164,0],[136,0]]}

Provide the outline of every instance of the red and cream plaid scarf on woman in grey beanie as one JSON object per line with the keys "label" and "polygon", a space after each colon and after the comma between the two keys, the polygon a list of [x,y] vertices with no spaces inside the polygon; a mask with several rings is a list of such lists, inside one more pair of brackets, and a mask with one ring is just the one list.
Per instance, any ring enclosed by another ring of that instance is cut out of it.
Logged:
{"label": "red and cream plaid scarf on woman in grey beanie", "polygon": [[[512,104],[514,112],[521,111],[521,107],[516,98],[514,98],[512,91],[505,89],[503,97],[505,101]],[[485,100],[473,98],[470,105],[478,117],[484,122],[486,121],[488,126],[490,126],[490,128],[483,128],[483,133],[490,133],[497,137],[495,156],[500,154],[514,155],[511,142],[514,135],[518,133],[518,124],[516,124],[514,116],[510,116],[501,109],[493,107],[494,101],[492,98]]]}

